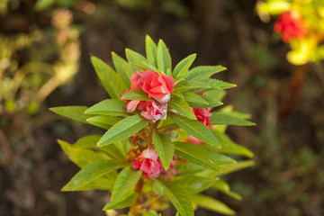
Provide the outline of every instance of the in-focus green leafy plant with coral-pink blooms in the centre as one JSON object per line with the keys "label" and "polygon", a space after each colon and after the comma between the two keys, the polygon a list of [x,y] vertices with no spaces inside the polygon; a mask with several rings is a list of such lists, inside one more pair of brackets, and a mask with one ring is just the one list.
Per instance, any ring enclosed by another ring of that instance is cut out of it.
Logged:
{"label": "in-focus green leafy plant with coral-pink blooms in the centre", "polygon": [[156,44],[147,36],[146,54],[126,49],[126,61],[112,52],[117,72],[92,57],[112,99],[91,107],[51,108],[106,130],[72,145],[58,140],[81,167],[62,190],[112,191],[111,202],[103,207],[108,215],[126,207],[129,215],[157,215],[168,200],[182,216],[193,215],[197,206],[233,214],[226,204],[199,193],[213,187],[240,199],[220,176],[253,165],[225,156],[253,156],[224,133],[227,125],[254,125],[248,115],[232,112],[230,106],[211,112],[222,104],[223,89],[235,85],[211,78],[225,67],[189,69],[195,54],[172,69],[163,40]]}

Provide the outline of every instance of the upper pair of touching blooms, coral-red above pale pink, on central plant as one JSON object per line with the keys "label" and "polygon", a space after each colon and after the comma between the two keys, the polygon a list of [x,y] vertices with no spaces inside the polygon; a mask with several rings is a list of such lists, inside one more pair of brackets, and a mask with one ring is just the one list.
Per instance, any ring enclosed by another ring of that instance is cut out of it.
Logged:
{"label": "upper pair of touching blooms, coral-red above pale pink, on central plant", "polygon": [[148,94],[148,98],[155,100],[130,100],[126,105],[127,112],[134,112],[138,108],[141,111],[140,115],[149,121],[165,120],[167,103],[171,98],[175,79],[172,76],[158,74],[153,70],[136,71],[130,79],[130,91],[141,88]]}

